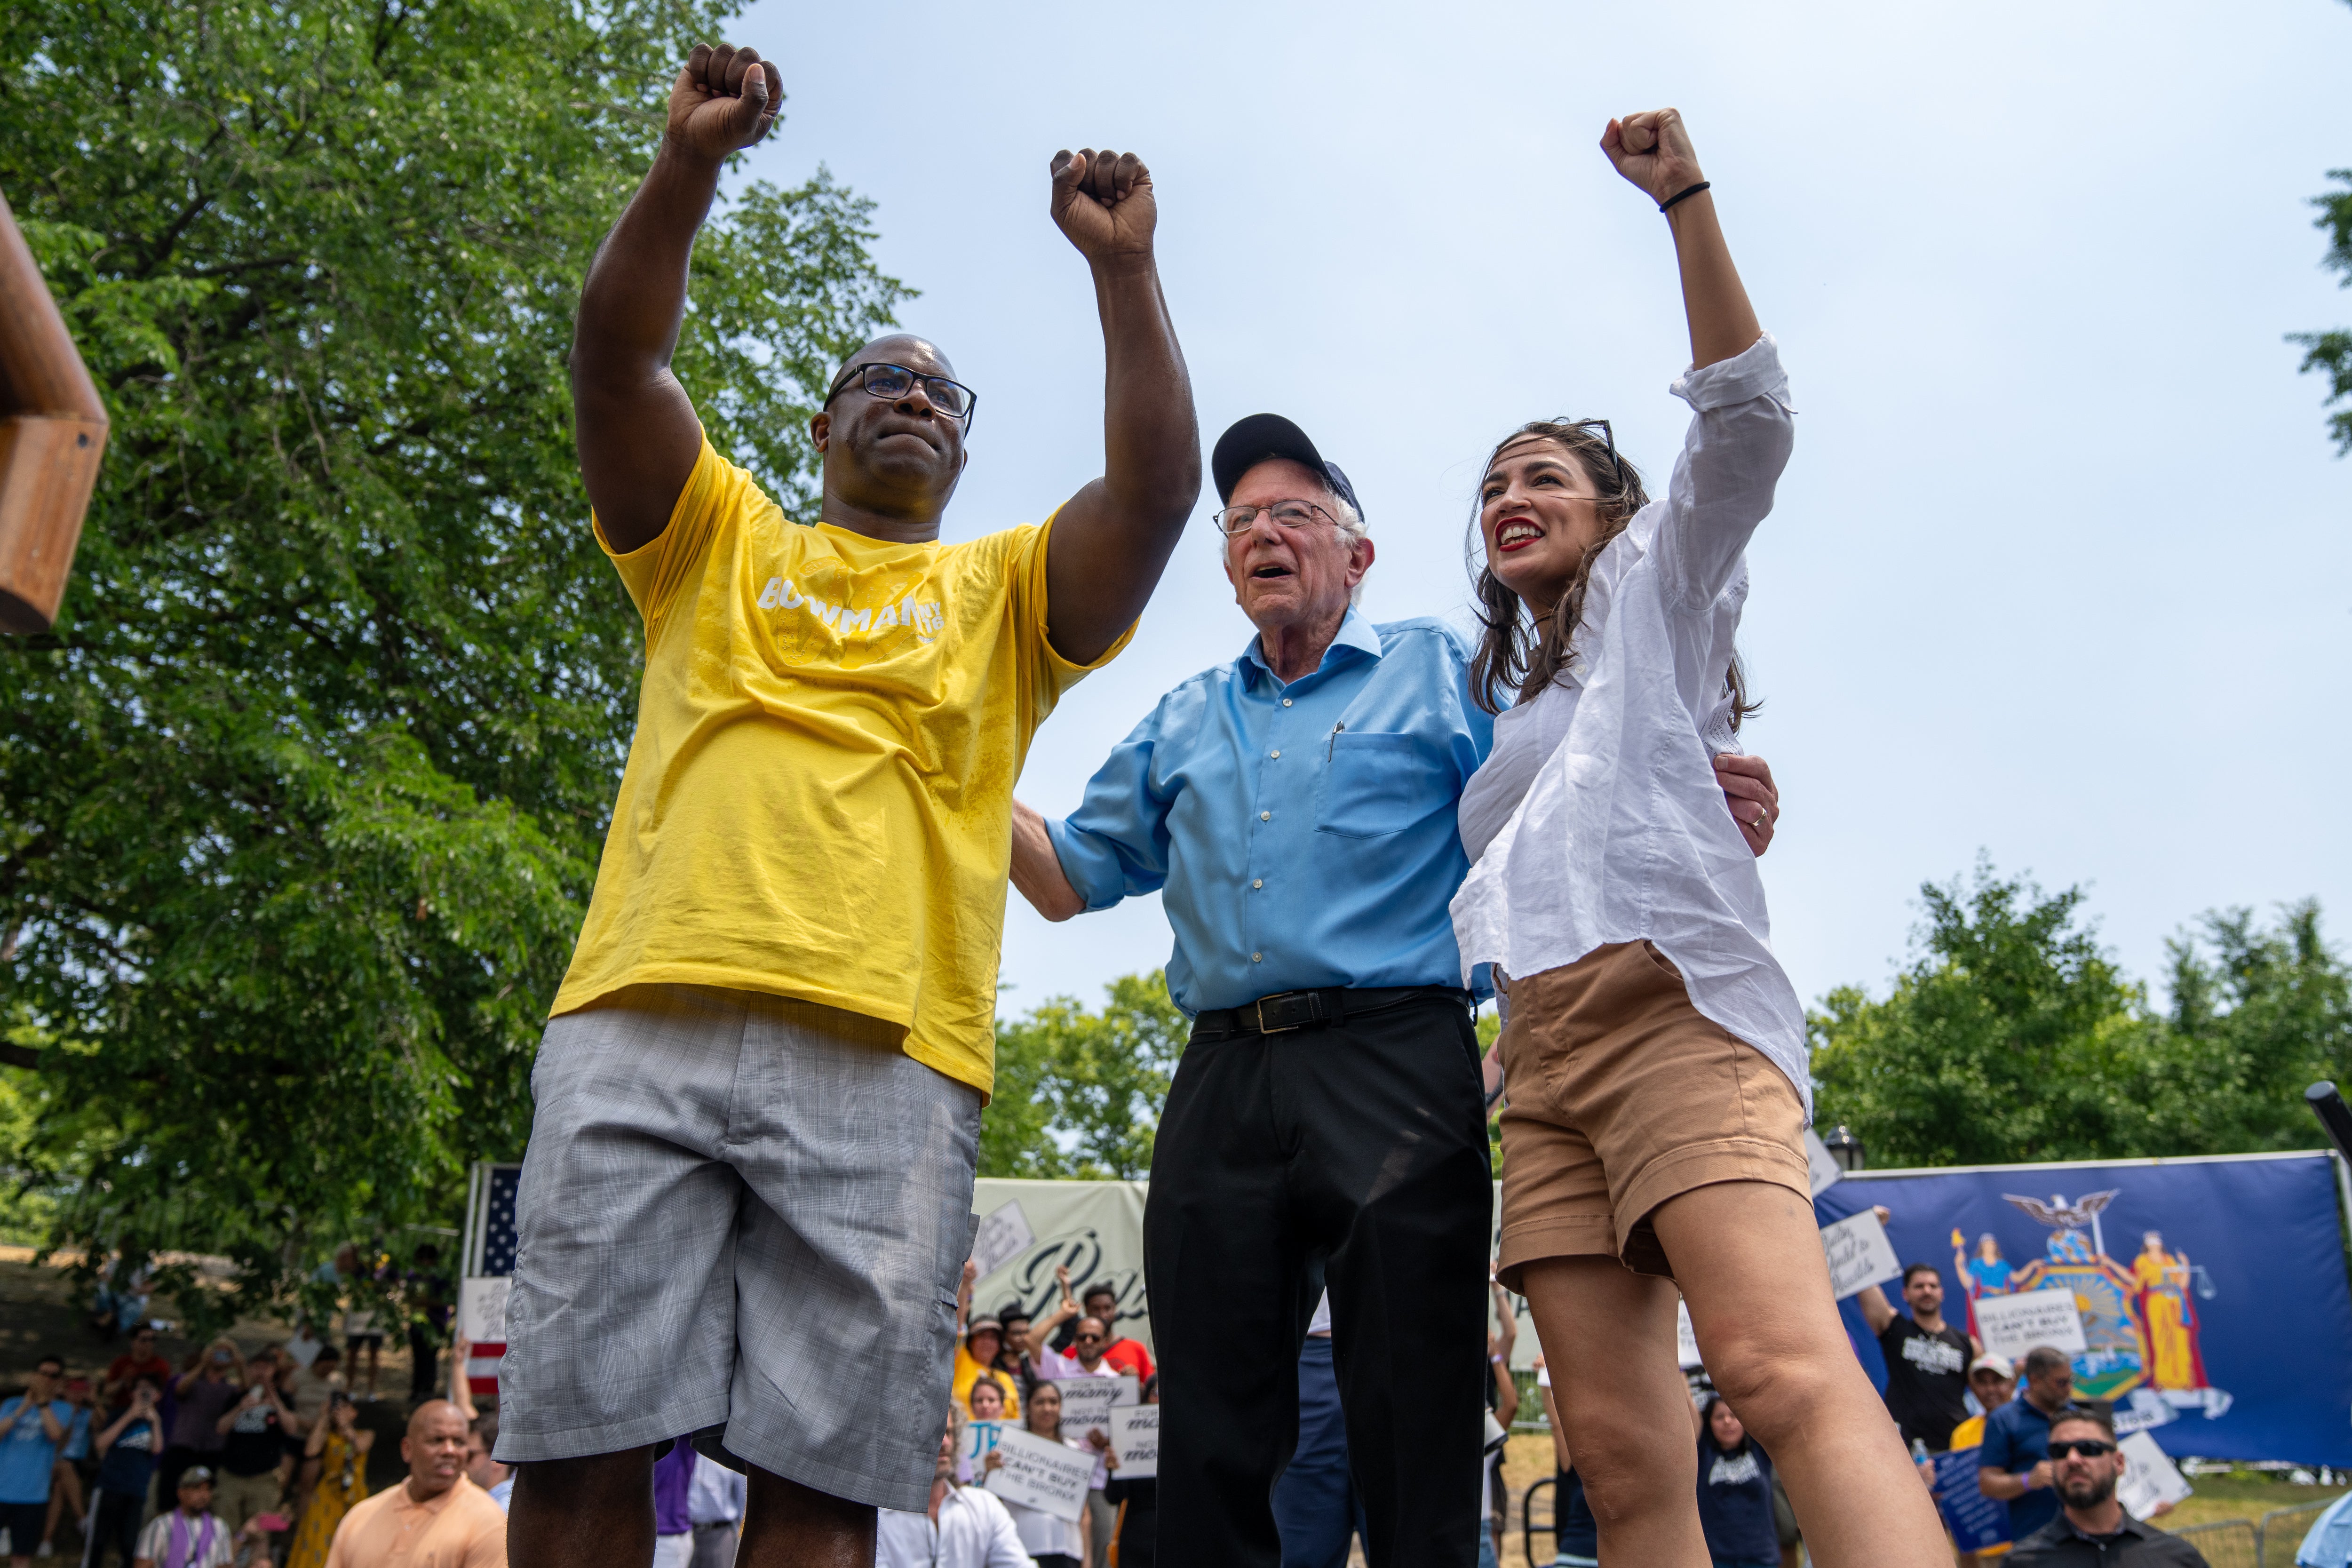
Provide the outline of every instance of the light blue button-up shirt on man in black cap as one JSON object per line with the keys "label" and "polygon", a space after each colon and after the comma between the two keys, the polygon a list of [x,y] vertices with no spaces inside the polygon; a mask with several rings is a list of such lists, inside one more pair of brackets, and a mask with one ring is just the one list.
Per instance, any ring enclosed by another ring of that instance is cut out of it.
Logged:
{"label": "light blue button-up shirt on man in black cap", "polygon": [[1470,860],[1456,802],[1494,745],[1470,646],[1442,621],[1352,609],[1284,684],[1258,639],[1160,698],[1054,853],[1089,910],[1167,889],[1169,994],[1188,1013],[1322,985],[1461,985],[1446,900]]}

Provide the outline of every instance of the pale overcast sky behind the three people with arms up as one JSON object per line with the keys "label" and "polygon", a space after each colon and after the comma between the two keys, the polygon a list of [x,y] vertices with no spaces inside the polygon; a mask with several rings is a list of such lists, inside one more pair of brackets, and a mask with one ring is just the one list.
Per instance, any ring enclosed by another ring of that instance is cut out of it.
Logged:
{"label": "pale overcast sky behind the three people with arms up", "polygon": [[[2281,336],[2352,324],[2307,197],[2352,165],[2352,9],[2272,5],[828,5],[764,0],[750,174],[880,205],[901,315],[981,390],[950,538],[1101,473],[1063,146],[1141,153],[1204,440],[1301,421],[1355,477],[1374,618],[1463,614],[1477,463],[1609,416],[1663,480],[1689,357],[1663,219],[1595,148],[1675,103],[1790,369],[1797,456],[1750,548],[1748,731],[1785,825],[1776,947],[1884,992],[1922,879],[1985,851],[2086,884],[2157,980],[2201,910],[2352,929],[2352,463]],[[1129,651],[1021,795],[1249,637],[1204,494]],[[1167,961],[1157,898],[1018,896],[1007,1013]]]}

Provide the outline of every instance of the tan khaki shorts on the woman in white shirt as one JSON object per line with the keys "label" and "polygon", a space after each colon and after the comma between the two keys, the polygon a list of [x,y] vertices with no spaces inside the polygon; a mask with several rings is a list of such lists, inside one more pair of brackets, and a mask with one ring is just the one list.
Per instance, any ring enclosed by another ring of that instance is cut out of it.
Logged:
{"label": "tan khaki shorts on the woman in white shirt", "polygon": [[1503,1027],[1503,1253],[1618,1258],[1675,1276],[1649,1215],[1712,1182],[1811,1201],[1804,1103],[1771,1058],[1691,1006],[1651,943],[1611,943],[1510,983]]}

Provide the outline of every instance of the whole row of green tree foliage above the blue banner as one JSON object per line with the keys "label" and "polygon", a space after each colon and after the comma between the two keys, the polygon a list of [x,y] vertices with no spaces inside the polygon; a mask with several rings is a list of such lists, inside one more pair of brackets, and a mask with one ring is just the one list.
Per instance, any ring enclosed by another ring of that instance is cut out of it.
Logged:
{"label": "whole row of green tree foliage above the blue banner", "polygon": [[2352,990],[2319,907],[2206,914],[2171,943],[2171,1009],[2117,973],[2082,889],[1978,865],[1922,889],[1919,957],[1884,999],[1811,1016],[1816,1117],[1877,1166],[2312,1147],[2303,1086],[2352,1070]]}

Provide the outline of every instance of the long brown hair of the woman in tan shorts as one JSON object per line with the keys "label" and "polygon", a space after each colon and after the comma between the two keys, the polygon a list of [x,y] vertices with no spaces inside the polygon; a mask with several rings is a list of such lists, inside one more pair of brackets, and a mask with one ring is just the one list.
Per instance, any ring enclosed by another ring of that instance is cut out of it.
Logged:
{"label": "long brown hair of the woman in tan shorts", "polygon": [[[1494,564],[1486,559],[1486,534],[1479,527],[1479,517],[1486,510],[1486,475],[1494,473],[1503,451],[1526,440],[1545,440],[1569,454],[1576,468],[1583,470],[1585,482],[1592,484],[1602,517],[1599,538],[1576,562],[1576,576],[1569,578],[1566,592],[1559,595],[1548,616],[1526,614],[1519,595],[1505,588],[1503,578],[1494,574]],[[1486,454],[1486,465],[1479,468],[1477,491],[1470,498],[1470,538],[1465,543],[1475,576],[1472,609],[1479,621],[1479,646],[1470,661],[1470,696],[1479,708],[1503,712],[1505,691],[1512,693],[1512,701],[1526,703],[1559,679],[1559,672],[1576,654],[1576,628],[1585,621],[1585,588],[1592,583],[1592,562],[1599,559],[1609,541],[1623,534],[1625,524],[1644,505],[1649,505],[1649,491],[1642,487],[1642,473],[1623,456],[1616,456],[1609,442],[1595,435],[1590,425],[1564,418],[1536,418],[1496,442],[1494,451]],[[1731,665],[1724,670],[1724,691],[1731,696],[1731,729],[1738,731],[1740,722],[1764,705],[1748,701],[1748,677],[1740,670],[1738,654],[1731,656]]]}

